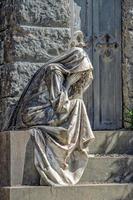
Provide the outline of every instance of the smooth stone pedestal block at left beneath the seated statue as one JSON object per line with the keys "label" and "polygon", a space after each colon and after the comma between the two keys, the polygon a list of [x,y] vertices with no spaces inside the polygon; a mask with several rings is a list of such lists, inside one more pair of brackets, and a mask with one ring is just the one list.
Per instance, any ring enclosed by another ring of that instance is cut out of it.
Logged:
{"label": "smooth stone pedestal block at left beneath the seated statue", "polygon": [[38,185],[30,131],[0,133],[0,186]]}

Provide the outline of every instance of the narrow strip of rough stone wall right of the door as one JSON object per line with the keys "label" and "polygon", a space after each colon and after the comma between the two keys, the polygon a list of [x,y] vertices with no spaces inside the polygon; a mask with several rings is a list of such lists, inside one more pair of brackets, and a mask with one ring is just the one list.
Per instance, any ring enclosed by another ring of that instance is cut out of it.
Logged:
{"label": "narrow strip of rough stone wall right of the door", "polygon": [[[133,109],[133,0],[123,0],[123,107],[126,120],[126,108]],[[124,123],[125,127],[129,124]]]}

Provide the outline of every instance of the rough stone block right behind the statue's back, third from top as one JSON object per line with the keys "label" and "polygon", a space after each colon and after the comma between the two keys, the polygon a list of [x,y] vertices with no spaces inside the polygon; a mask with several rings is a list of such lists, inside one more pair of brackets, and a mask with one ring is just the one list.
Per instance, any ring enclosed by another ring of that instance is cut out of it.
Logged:
{"label": "rough stone block right behind the statue's back, third from top", "polygon": [[0,66],[0,98],[19,97],[30,78],[44,63],[16,62]]}

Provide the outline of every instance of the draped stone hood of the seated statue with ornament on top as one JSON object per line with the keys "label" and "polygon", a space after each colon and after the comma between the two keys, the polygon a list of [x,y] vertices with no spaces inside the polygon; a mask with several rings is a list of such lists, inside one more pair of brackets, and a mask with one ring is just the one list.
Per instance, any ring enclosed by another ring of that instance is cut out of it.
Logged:
{"label": "draped stone hood of the seated statue with ornament on top", "polygon": [[83,72],[92,69],[88,55],[83,50],[85,47],[82,31],[76,31],[69,43],[69,50],[56,57],[51,63],[63,64],[64,70],[69,73]]}

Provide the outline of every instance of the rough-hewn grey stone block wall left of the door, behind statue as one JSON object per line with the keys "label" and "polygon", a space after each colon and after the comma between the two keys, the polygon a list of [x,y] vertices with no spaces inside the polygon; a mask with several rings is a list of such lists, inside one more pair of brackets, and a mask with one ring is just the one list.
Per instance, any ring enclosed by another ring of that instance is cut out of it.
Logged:
{"label": "rough-hewn grey stone block wall left of the door, behind statue", "polygon": [[0,2],[0,129],[31,76],[68,48],[69,0]]}

